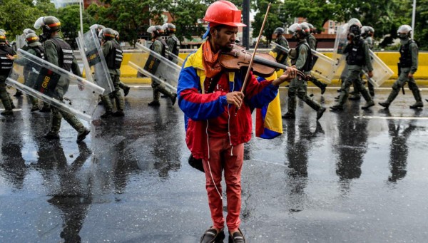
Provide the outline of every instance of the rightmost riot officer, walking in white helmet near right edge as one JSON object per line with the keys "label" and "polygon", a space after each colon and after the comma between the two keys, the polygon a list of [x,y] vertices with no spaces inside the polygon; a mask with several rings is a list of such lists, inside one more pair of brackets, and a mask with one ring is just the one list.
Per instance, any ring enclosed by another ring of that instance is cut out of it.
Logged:
{"label": "rightmost riot officer, walking in white helmet near right edge", "polygon": [[421,93],[413,78],[414,73],[417,71],[417,56],[419,50],[417,43],[415,43],[411,38],[412,27],[404,24],[399,26],[397,33],[401,43],[399,48],[399,77],[392,85],[392,91],[389,93],[387,100],[379,102],[379,105],[382,105],[384,108],[388,108],[392,101],[397,97],[399,89],[402,88],[405,83],[408,83],[409,89],[412,91],[414,99],[416,100],[416,103],[410,105],[410,108],[422,108],[424,103],[422,103]]}

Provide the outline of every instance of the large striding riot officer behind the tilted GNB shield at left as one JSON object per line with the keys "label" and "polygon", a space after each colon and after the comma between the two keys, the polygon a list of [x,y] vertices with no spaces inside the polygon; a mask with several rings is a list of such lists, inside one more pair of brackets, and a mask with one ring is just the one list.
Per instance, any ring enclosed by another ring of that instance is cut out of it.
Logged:
{"label": "large striding riot officer behind the tilted GNB shield at left", "polygon": [[[77,76],[82,76],[76,58],[73,55],[73,49],[59,36],[61,22],[54,16],[40,17],[34,24],[34,28],[42,28],[43,30],[43,33],[39,36],[39,40],[44,43],[44,56],[46,61],[66,71],[71,70]],[[54,91],[55,98],[62,100],[69,85],[70,81],[67,78],[60,78]],[[86,135],[90,133],[90,130],[85,128],[75,115],[53,107],[51,108],[51,130],[44,135],[44,138],[59,139],[58,133],[61,128],[62,118],[77,131],[77,143],[84,140]]]}

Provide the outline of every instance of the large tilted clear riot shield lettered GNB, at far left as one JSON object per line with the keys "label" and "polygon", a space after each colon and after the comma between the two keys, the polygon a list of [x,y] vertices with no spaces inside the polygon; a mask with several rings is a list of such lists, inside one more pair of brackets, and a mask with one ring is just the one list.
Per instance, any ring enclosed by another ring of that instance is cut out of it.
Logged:
{"label": "large tilted clear riot shield lettered GNB, at far left", "polygon": [[[98,95],[104,92],[103,88],[22,49],[17,51],[17,55],[14,70],[6,79],[8,85],[54,105],[60,110],[73,113],[78,118],[91,120],[98,105]],[[26,84],[22,84],[24,72],[21,70],[23,69],[30,70]],[[58,83],[63,87],[62,98],[58,95]],[[69,84],[69,86],[63,84]]]}

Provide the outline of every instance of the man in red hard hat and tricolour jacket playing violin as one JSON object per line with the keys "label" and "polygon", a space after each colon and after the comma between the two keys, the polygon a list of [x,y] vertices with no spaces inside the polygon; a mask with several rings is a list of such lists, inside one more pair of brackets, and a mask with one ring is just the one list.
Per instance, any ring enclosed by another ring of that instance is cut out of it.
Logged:
{"label": "man in red hard hat and tricolour jacket playing violin", "polygon": [[[204,20],[209,23],[208,39],[191,53],[178,78],[178,105],[185,113],[186,143],[193,157],[203,160],[213,226],[200,242],[223,242],[224,223],[230,242],[245,242],[240,230],[241,183],[244,143],[251,138],[251,110],[270,103],[280,83],[296,76],[290,68],[275,81],[258,80],[251,74],[241,92],[245,71],[227,71],[218,61],[220,53],[231,51],[241,23],[241,11],[229,1],[211,4]],[[223,217],[220,181],[224,170],[228,216]]]}

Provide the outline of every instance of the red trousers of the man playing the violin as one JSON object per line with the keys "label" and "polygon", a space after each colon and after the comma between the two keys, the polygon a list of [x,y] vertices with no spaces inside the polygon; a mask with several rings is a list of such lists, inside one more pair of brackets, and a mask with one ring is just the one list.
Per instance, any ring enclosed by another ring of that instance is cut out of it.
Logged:
{"label": "red trousers of the man playing the violin", "polygon": [[[223,200],[220,198],[220,195],[223,195],[220,182],[224,169],[226,197],[228,200],[226,224],[228,224],[229,231],[232,232],[237,230],[240,225],[240,173],[243,167],[244,144],[241,143],[232,147],[228,138],[210,138],[208,143],[210,145],[210,159],[208,161],[203,160],[203,168],[205,170],[205,187],[208,193],[208,205],[210,206],[213,226],[222,229],[225,224]],[[233,150],[233,155],[230,155],[230,150]],[[213,177],[211,177],[211,174]]]}

